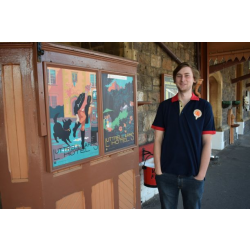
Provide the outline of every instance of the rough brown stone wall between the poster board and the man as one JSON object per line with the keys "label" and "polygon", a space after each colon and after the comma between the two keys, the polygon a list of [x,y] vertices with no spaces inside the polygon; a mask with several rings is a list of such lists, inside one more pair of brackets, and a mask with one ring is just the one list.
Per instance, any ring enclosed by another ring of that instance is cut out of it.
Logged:
{"label": "rough brown stone wall between the poster board and the man", "polygon": [[[165,45],[181,60],[195,64],[195,43],[166,42]],[[137,69],[137,100],[151,101],[138,108],[139,145],[154,141],[151,125],[160,103],[161,74],[173,74],[177,66],[156,43],[81,43],[82,48],[122,56],[139,62]]]}

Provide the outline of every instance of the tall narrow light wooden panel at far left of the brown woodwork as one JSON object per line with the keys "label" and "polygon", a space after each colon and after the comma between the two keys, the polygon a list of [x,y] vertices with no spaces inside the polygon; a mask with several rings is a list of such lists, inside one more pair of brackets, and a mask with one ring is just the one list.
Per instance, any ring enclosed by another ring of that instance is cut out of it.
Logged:
{"label": "tall narrow light wooden panel at far left of the brown woodwork", "polygon": [[12,180],[28,178],[21,71],[18,65],[3,67],[3,96],[8,167]]}

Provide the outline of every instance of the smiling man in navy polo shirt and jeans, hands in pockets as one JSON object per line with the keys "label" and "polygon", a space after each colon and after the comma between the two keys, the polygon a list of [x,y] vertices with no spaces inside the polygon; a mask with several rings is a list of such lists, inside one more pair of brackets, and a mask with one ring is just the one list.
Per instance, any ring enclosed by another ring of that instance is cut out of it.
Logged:
{"label": "smiling man in navy polo shirt and jeans, hands in pockets", "polygon": [[152,124],[156,183],[162,208],[177,208],[181,190],[183,207],[199,209],[215,134],[212,107],[193,94],[194,67],[179,64],[173,78],[178,93],[160,103]]}

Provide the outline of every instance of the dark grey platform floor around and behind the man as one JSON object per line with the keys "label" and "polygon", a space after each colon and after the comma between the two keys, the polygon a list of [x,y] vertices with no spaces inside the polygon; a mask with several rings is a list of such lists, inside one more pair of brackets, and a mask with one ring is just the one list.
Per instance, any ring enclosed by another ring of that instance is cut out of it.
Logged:
{"label": "dark grey platform floor around and behind the man", "polygon": [[[202,209],[250,208],[250,133],[240,135],[234,144],[219,151],[211,160],[205,181]],[[159,209],[159,195],[142,204],[142,209]],[[178,209],[183,208],[181,193]]]}

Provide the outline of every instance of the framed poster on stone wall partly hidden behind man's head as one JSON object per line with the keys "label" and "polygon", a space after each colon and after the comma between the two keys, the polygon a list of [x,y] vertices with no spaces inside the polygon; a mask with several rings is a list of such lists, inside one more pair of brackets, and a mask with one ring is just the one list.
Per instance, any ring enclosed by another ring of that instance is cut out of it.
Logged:
{"label": "framed poster on stone wall partly hidden behind man's head", "polygon": [[173,76],[162,74],[161,75],[161,102],[172,98],[178,93],[176,84],[174,83]]}

